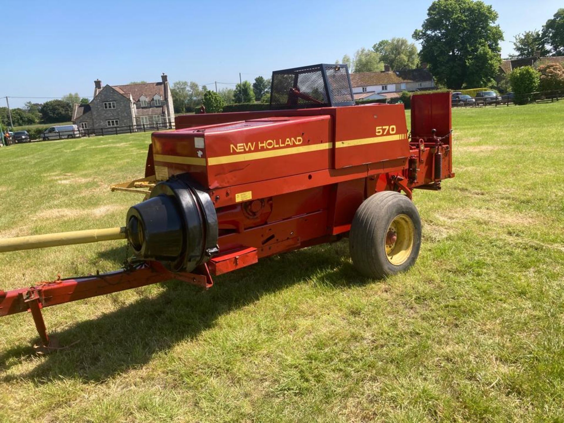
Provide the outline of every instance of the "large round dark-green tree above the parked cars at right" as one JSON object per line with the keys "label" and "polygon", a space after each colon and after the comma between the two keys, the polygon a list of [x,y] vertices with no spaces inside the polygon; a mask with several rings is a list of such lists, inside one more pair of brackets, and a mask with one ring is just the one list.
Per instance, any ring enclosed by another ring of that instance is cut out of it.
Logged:
{"label": "large round dark-green tree above the parked cars at right", "polygon": [[[449,88],[494,83],[501,64],[503,33],[497,12],[482,1],[435,0],[413,38],[421,41],[419,58],[437,82]],[[483,60],[486,60],[484,62]]]}

